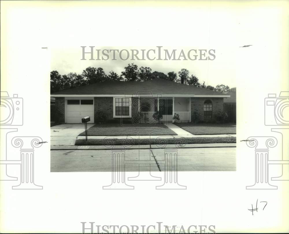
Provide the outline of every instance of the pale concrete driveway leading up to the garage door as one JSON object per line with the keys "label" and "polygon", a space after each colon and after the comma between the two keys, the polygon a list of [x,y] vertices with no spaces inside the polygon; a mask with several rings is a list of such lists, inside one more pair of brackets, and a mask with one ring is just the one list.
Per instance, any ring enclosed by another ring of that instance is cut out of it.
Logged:
{"label": "pale concrete driveway leading up to the garage door", "polygon": [[[89,129],[94,124],[87,124]],[[84,124],[59,124],[50,128],[51,146],[74,146],[77,136],[84,131]]]}

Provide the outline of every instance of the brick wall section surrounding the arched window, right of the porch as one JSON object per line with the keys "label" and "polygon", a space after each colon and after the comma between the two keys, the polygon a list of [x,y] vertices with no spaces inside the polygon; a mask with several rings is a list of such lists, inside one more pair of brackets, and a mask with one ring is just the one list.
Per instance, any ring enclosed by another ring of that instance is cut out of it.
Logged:
{"label": "brick wall section surrounding the arched window, right of the porch", "polygon": [[[204,102],[205,100],[212,101],[212,118],[205,118],[204,119]],[[191,114],[194,111],[200,113],[200,120],[216,120],[215,114],[218,111],[224,110],[224,98],[223,97],[191,97]]]}

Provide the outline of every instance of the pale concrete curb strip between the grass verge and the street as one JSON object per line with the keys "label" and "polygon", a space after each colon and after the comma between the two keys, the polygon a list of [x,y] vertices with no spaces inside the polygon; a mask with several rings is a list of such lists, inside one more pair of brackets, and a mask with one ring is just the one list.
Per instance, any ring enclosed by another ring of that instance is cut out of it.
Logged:
{"label": "pale concrete curb strip between the grass verge and the street", "polygon": [[[206,144],[186,144],[184,147],[178,147],[179,149],[184,148],[227,148],[236,147],[236,143],[206,143]],[[177,148],[174,144],[168,144],[164,148]],[[123,146],[51,146],[50,150],[135,150],[135,149],[160,149],[156,145],[134,145],[129,148]]]}

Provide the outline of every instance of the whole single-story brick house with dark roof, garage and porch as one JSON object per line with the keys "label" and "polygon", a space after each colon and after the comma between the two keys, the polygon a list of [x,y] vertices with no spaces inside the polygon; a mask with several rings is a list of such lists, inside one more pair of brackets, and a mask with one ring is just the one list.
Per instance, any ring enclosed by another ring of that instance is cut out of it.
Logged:
{"label": "whole single-story brick house with dark roof, garage and porch", "polygon": [[153,122],[154,113],[162,120],[190,122],[194,111],[200,120],[212,120],[214,114],[224,110],[224,93],[155,78],[147,81],[105,81],[52,93],[59,123],[80,123],[90,116],[94,123],[97,112],[108,119],[140,118]]}

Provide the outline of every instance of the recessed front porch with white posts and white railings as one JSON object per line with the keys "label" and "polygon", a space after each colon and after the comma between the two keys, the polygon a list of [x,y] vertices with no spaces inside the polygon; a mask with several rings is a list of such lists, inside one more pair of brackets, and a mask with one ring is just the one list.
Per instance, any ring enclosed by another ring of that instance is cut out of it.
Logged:
{"label": "recessed front porch with white posts and white railings", "polygon": [[[162,114],[163,122],[191,122],[190,97],[138,98],[138,112],[143,123],[156,122],[155,114]],[[177,115],[179,120],[173,120]]]}

